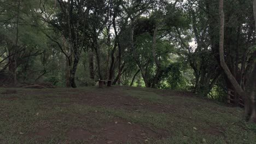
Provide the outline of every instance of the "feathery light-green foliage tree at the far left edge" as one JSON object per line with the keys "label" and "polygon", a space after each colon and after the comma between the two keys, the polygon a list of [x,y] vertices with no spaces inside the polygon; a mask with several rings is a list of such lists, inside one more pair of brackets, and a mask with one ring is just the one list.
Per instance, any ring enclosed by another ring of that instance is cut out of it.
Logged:
{"label": "feathery light-green foliage tree at the far left edge", "polygon": [[34,1],[1,1],[1,49],[5,48],[0,73],[6,73],[8,68],[7,81],[13,86],[18,84],[20,77],[27,75],[27,63],[32,57],[40,55],[42,51],[39,47],[44,46],[41,33],[33,26],[38,19],[34,19],[34,11],[30,11],[31,7],[37,8],[36,5]]}

